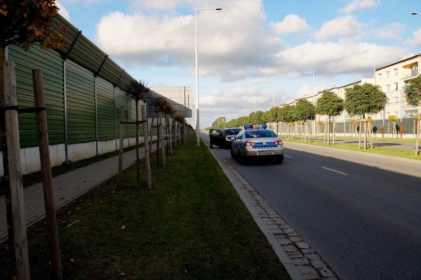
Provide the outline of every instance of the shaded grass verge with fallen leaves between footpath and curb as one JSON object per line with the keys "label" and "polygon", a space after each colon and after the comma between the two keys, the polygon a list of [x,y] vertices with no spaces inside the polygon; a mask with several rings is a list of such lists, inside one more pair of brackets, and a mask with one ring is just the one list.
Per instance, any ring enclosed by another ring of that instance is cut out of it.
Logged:
{"label": "shaded grass verge with fallen leaves between footpath and curb", "polygon": [[[203,143],[190,137],[166,167],[151,162],[152,192],[132,166],[122,190],[112,178],[58,210],[64,279],[289,279]],[[28,229],[32,279],[50,279],[45,227]],[[7,259],[3,243],[1,279]]]}

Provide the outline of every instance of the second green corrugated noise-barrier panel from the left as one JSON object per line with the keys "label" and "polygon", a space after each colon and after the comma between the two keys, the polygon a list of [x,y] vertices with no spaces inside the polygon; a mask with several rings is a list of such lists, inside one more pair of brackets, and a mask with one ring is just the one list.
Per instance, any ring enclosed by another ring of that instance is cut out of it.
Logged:
{"label": "second green corrugated noise-barrier panel from the left", "polygon": [[66,63],[68,143],[96,140],[95,83],[91,72],[73,61]]}

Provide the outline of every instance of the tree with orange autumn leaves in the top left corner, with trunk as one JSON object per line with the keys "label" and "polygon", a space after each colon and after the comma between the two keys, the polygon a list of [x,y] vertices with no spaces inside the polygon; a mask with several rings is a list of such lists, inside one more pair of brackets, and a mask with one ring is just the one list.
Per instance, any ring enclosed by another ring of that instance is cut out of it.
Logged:
{"label": "tree with orange autumn leaves in the top left corner, with trunk", "polygon": [[[39,43],[42,49],[54,48],[58,49],[65,43],[65,38],[50,27],[52,18],[57,16],[58,7],[54,0],[0,0],[0,106],[4,106],[4,72],[3,64],[5,61],[4,49],[10,44],[22,46],[25,50]],[[66,34],[67,31],[60,26],[61,33]],[[1,117],[4,118],[4,117]],[[6,131],[1,124],[1,143],[3,153],[3,169],[4,178],[8,178],[8,155],[6,145]],[[13,223],[10,205],[10,186],[7,180],[4,180],[6,212],[8,228],[8,240],[10,251],[10,266],[12,267],[13,276],[18,274],[18,278],[25,278],[16,271],[16,262],[14,260],[14,236]],[[21,213],[24,215],[24,213]],[[25,238],[26,240],[26,238]],[[26,248],[20,248],[26,249]],[[19,266],[24,265],[19,261]],[[61,271],[60,271],[61,273]]]}

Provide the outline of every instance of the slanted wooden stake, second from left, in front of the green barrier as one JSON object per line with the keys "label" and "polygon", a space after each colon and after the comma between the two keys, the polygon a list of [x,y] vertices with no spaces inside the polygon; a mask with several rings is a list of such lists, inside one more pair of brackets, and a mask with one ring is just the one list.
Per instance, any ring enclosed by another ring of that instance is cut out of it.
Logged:
{"label": "slanted wooden stake, second from left, in front of the green barrier", "polygon": [[42,70],[32,70],[34,84],[35,107],[37,110],[38,145],[40,147],[41,177],[44,189],[45,218],[53,279],[63,279],[61,273],[60,248],[58,244],[57,220],[55,216],[54,191],[50,151],[48,147],[47,118],[45,114],[44,89],[42,85]]}

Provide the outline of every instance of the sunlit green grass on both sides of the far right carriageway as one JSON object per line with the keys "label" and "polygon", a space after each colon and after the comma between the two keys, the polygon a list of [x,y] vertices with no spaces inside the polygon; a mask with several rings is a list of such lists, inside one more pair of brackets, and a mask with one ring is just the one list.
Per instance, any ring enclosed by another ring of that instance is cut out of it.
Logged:
{"label": "sunlit green grass on both sides of the far right carriageway", "polygon": [[[319,139],[323,139],[323,137],[317,137]],[[352,139],[358,141],[358,137],[337,137],[335,136],[335,139]],[[384,148],[379,147],[373,144],[373,148],[370,148],[370,140],[367,139],[367,149],[364,149],[364,139],[361,139],[361,148],[358,148],[358,144],[346,144],[346,143],[335,143],[332,144],[332,137],[331,137],[331,143],[330,145],[327,145],[327,138],[326,138],[326,144],[323,144],[321,141],[311,141],[304,143],[301,141],[301,139],[294,139],[294,140],[288,140],[283,138],[284,142],[293,142],[293,143],[303,143],[308,145],[314,145],[314,146],[323,146],[323,147],[329,147],[329,148],[336,148],[336,149],[343,149],[343,150],[351,150],[351,151],[360,151],[364,153],[371,153],[371,154],[379,154],[379,155],[386,155],[386,156],[392,156],[392,157],[400,157],[400,158],[406,158],[411,160],[421,160],[420,154],[415,156],[415,150],[401,150],[401,149],[393,149],[393,148]],[[407,142],[407,143],[414,143],[415,146],[415,139],[397,139],[397,138],[373,138],[373,141],[387,141],[387,142]]]}

